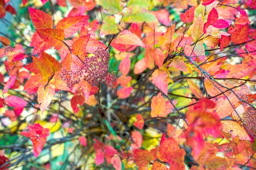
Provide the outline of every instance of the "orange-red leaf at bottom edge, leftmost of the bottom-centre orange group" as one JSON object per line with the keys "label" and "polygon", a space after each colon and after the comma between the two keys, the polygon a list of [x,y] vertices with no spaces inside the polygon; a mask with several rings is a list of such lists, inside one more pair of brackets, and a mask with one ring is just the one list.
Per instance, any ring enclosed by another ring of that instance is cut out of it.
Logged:
{"label": "orange-red leaf at bottom edge, leftmost of the bottom-centre orange group", "polygon": [[143,170],[153,160],[153,155],[148,150],[134,149],[134,159],[138,167]]}

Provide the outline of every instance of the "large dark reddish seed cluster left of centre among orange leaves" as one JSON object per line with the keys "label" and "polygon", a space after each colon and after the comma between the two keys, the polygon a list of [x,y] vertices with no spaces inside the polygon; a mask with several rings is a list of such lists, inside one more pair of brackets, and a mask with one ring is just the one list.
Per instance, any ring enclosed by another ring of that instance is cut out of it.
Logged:
{"label": "large dark reddish seed cluster left of centre among orange leaves", "polygon": [[84,65],[77,71],[62,70],[61,79],[67,83],[69,88],[82,81],[86,81],[92,86],[97,86],[100,82],[111,85],[116,81],[116,75],[108,73],[110,59],[108,51],[98,48],[93,54],[92,57],[85,57]]}

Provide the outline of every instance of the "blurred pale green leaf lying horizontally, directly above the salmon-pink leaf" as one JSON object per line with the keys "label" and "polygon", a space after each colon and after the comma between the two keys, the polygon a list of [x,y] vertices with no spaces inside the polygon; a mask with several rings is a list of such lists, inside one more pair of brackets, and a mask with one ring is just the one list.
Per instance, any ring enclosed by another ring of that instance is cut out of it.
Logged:
{"label": "blurred pale green leaf lying horizontally, directly above the salmon-pink leaf", "polygon": [[125,23],[149,23],[149,22],[157,22],[157,18],[154,14],[148,12],[142,12],[139,14],[129,14],[122,18],[122,21]]}

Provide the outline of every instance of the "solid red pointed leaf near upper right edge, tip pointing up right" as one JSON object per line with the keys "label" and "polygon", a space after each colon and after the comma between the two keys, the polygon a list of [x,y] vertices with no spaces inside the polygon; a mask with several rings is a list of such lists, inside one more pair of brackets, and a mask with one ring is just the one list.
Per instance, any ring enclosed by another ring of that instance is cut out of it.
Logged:
{"label": "solid red pointed leaf near upper right edge, tip pointing up right", "polygon": [[231,41],[240,44],[247,41],[249,35],[249,25],[246,23],[231,34]]}

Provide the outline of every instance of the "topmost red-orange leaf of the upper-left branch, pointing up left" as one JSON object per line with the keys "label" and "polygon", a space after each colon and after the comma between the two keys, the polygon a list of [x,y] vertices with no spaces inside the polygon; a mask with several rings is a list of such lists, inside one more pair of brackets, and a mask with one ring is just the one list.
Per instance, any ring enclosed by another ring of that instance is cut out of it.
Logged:
{"label": "topmost red-orange leaf of the upper-left branch, pointing up left", "polygon": [[36,29],[52,28],[52,17],[43,11],[29,7],[29,14]]}

